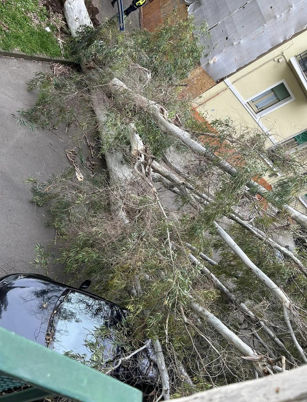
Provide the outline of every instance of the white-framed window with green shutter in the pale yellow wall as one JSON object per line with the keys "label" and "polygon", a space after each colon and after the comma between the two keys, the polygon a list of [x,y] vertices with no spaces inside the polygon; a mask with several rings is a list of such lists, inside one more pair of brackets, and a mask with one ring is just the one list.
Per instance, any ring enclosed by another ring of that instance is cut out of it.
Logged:
{"label": "white-framed window with green shutter in the pale yellow wall", "polygon": [[271,111],[275,109],[275,107],[271,109],[272,106],[276,105],[278,107],[284,105],[284,103],[292,99],[293,97],[284,82],[281,82],[250,99],[248,104],[252,107],[254,112],[259,113],[268,108],[270,108],[269,111]]}

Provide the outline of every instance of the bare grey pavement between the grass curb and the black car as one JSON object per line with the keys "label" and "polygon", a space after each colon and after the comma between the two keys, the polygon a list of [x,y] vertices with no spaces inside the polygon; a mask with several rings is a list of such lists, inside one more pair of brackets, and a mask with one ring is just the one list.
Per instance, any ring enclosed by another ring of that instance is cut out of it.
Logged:
{"label": "bare grey pavement between the grass curb and the black car", "polygon": [[[26,187],[23,180],[46,179],[70,166],[65,149],[72,147],[71,138],[64,132],[30,131],[16,124],[17,109],[28,109],[37,97],[25,81],[46,68],[41,62],[0,57],[0,277],[34,272],[29,263],[36,242],[48,244],[55,239],[55,231],[45,226],[45,210],[31,203],[31,184]],[[55,267],[49,275],[60,277],[60,271]]]}

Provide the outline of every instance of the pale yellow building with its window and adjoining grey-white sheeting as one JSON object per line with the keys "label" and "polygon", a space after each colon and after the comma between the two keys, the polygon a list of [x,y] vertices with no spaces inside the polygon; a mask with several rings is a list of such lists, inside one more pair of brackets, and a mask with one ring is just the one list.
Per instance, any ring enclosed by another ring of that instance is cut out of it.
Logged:
{"label": "pale yellow building with its window and adjoining grey-white sheeting", "polygon": [[[196,20],[207,18],[209,38],[203,42],[210,49],[201,64],[217,81],[194,106],[208,121],[230,117],[234,124],[260,129],[268,148],[282,143],[307,160],[307,4],[242,4],[197,0],[188,8]],[[216,15],[216,7],[225,15]],[[266,179],[274,187],[278,176]],[[300,210],[307,208],[305,193],[294,205]]]}

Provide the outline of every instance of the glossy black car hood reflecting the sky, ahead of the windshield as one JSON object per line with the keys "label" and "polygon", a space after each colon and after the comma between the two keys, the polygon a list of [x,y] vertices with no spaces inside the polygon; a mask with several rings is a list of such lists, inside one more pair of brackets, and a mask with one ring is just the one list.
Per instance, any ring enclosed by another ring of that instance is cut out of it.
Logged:
{"label": "glossy black car hood reflecting the sky, ahead of the windshield", "polygon": [[0,326],[45,345],[49,318],[66,289],[23,275],[9,277],[0,288]]}

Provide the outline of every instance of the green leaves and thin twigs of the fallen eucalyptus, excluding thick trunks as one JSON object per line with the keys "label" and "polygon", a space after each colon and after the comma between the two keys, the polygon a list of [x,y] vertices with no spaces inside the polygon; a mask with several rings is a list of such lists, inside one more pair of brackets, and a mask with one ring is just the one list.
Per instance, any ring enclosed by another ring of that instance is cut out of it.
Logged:
{"label": "green leaves and thin twigs of the fallen eucalyptus, excluding thick trunks", "polygon": [[[60,238],[61,248],[53,262],[63,264],[67,273],[93,277],[95,293],[129,310],[129,336],[126,333],[119,336],[127,353],[138,349],[145,339],[160,339],[173,397],[252,377],[250,365],[242,360],[235,347],[191,309],[191,297],[213,312],[259,355],[279,356],[284,351],[278,350],[267,336],[259,324],[263,320],[289,352],[287,367],[300,364],[278,302],[217,236],[214,221],[227,227],[240,248],[291,296],[303,312],[302,322],[307,308],[306,278],[293,260],[280,257],[271,244],[226,218],[235,211],[246,221],[254,220],[270,236],[280,234],[281,226],[286,228],[289,238],[299,236],[297,225],[287,221],[266,200],[259,201],[245,184],[266,174],[268,166],[263,157],[272,159],[274,155],[284,178],[274,186],[268,201],[271,197],[279,205],[291,202],[305,181],[297,175],[300,168],[297,160],[289,159],[279,148],[275,153],[267,151],[267,139],[258,131],[238,126],[230,119],[213,121],[208,129],[207,123],[194,117],[190,98],[181,92],[180,85],[186,82],[204,51],[197,41],[197,32],[204,29],[195,27],[190,19],[176,20],[176,24],[170,19],[154,33],[122,34],[111,22],[105,23],[82,45],[84,38],[92,33],[84,27],[73,44],[78,48],[76,62],[82,68],[37,74],[30,83],[30,89],[39,91],[37,103],[21,112],[30,123],[42,127],[74,124],[80,129],[80,137],[94,133],[100,160],[106,152],[120,151],[123,163],[132,169],[131,178],[125,183],[121,180],[110,183],[104,162],[89,168],[80,154],[84,180],[74,179],[73,167],[46,183],[35,183],[30,178],[33,202],[47,206],[48,224]],[[151,115],[133,104],[129,96],[123,107],[106,90],[114,77],[134,92],[163,105],[168,111],[167,119],[234,164],[237,175],[229,177],[212,160],[192,155],[177,139],[162,133]],[[103,107],[103,135],[93,110],[92,94],[99,96]],[[159,185],[158,192],[155,190],[150,167],[147,174],[139,170],[139,162],[131,156],[130,122],[142,138],[148,164],[150,160],[161,163],[164,160],[170,170],[177,170],[182,185],[173,186],[176,196]],[[179,155],[180,168],[174,166],[174,153]],[[136,166],[134,170],[133,166]],[[185,181],[194,187],[194,193],[186,190]],[[208,194],[209,205],[195,192]],[[114,214],[114,200],[120,200],[129,224],[123,224]],[[245,303],[254,312],[255,320],[244,316],[199,267],[190,263],[187,243],[217,259],[218,265],[204,264],[239,303]],[[306,255],[300,252],[306,265]],[[41,246],[39,253],[45,264],[46,255],[51,255],[43,254]],[[97,342],[89,345],[95,351],[95,358],[86,363],[106,372],[110,367],[101,361],[101,331],[98,329],[94,334]],[[303,330],[297,336],[305,342]],[[184,381],[181,365],[193,386]],[[159,397],[159,387],[157,381],[154,392],[148,396],[150,400]]]}

